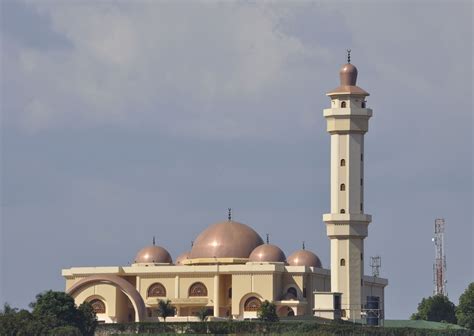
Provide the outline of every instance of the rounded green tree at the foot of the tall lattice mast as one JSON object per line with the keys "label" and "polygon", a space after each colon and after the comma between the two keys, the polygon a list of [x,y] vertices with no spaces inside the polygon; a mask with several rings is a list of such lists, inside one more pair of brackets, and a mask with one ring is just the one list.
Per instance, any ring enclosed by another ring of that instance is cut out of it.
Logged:
{"label": "rounded green tree at the foot of the tall lattice mast", "polygon": [[434,295],[423,298],[418,304],[418,312],[411,316],[412,320],[456,323],[456,306],[447,296]]}

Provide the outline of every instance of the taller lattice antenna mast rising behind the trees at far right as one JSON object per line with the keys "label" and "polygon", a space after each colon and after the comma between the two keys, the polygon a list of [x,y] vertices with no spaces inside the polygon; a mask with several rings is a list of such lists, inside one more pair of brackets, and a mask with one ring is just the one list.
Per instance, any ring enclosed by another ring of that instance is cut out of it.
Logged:
{"label": "taller lattice antenna mast rising behind the trees at far right", "polygon": [[446,292],[446,255],[444,253],[444,219],[435,220],[435,263],[433,264],[433,284],[435,295],[447,295]]}

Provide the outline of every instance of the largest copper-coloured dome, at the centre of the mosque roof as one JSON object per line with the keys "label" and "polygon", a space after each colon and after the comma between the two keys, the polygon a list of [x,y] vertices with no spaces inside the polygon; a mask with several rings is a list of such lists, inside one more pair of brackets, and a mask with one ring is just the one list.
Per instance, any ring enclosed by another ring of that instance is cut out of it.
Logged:
{"label": "largest copper-coloured dome, at the centre of the mosque roof", "polygon": [[262,244],[262,238],[251,227],[229,220],[201,232],[189,258],[248,258]]}

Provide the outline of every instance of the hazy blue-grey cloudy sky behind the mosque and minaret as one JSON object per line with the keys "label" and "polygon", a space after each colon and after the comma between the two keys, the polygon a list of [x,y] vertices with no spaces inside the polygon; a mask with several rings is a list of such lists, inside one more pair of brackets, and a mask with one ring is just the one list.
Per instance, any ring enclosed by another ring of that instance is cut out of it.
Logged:
{"label": "hazy blue-grey cloudy sky behind the mosque and minaret", "polygon": [[450,299],[473,281],[472,2],[0,4],[0,303],[127,265],[153,236],[176,258],[228,207],[328,267],[322,110],[348,48],[373,109],[365,255],[386,317],[432,295],[436,218]]}

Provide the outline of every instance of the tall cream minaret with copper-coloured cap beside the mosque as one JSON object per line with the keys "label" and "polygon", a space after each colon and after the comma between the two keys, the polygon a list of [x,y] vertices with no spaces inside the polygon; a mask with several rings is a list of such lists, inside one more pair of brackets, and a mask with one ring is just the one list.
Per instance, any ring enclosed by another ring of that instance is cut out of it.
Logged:
{"label": "tall cream minaret with copper-coloured cap beside the mosque", "polygon": [[331,240],[331,291],[342,293],[346,318],[360,319],[364,238],[372,220],[364,213],[364,134],[372,110],[366,107],[369,93],[356,86],[350,50],[339,76],[341,85],[327,93],[331,108],[324,109],[331,135],[331,213],[323,221]]}

